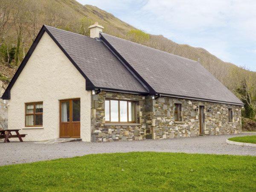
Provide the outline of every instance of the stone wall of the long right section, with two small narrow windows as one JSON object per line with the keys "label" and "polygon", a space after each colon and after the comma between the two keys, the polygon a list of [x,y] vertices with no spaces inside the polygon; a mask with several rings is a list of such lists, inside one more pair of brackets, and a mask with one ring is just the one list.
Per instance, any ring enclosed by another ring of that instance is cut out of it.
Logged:
{"label": "stone wall of the long right section, with two small narrow windows", "polygon": [[[182,104],[182,122],[174,120],[175,103]],[[240,106],[160,97],[152,101],[153,139],[198,136],[200,105],[204,106],[205,113],[204,134],[241,133]],[[229,108],[233,108],[233,122],[229,122]]]}

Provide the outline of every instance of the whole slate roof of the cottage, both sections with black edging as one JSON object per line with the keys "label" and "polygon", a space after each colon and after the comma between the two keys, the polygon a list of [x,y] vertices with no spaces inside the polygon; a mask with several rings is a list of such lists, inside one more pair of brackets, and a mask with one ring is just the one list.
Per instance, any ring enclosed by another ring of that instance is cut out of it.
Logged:
{"label": "whole slate roof of the cottage, both sections with black edging", "polygon": [[150,47],[101,33],[101,38],[43,26],[9,83],[10,90],[44,32],[47,32],[86,79],[86,90],[99,89],[138,94],[243,103],[201,64]]}

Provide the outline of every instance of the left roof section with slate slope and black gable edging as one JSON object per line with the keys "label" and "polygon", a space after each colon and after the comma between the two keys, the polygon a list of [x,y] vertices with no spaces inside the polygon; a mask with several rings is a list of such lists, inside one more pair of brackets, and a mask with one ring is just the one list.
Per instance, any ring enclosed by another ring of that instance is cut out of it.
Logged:
{"label": "left roof section with slate slope and black gable edging", "polygon": [[17,69],[2,99],[10,99],[10,90],[25,67],[44,32],[69,58],[86,79],[86,90],[106,88],[131,93],[148,93],[148,90],[120,63],[107,47],[96,39],[67,32],[50,26],[43,26],[32,46]]}

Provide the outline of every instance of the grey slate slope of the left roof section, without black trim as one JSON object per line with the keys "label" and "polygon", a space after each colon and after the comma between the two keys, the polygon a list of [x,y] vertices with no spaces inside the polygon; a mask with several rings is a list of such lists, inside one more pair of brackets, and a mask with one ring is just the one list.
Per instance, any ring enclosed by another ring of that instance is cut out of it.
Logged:
{"label": "grey slate slope of the left roof section, without black trim", "polygon": [[45,27],[95,87],[148,92],[102,41],[50,26]]}

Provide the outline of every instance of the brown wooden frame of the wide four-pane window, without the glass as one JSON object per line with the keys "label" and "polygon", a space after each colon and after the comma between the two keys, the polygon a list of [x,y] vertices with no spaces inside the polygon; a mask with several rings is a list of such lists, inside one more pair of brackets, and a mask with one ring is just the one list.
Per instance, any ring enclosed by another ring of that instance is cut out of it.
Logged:
{"label": "brown wooden frame of the wide four-pane window, without the glass", "polygon": [[[112,101],[118,101],[118,121],[111,121],[111,100]],[[131,100],[122,100],[122,99],[105,99],[105,101],[109,101],[109,121],[106,121],[106,123],[136,123],[136,101]],[[127,102],[127,120],[128,121],[120,121],[120,101]],[[134,121],[129,121],[129,102],[134,103]],[[106,104],[106,102],[105,102]]]}

